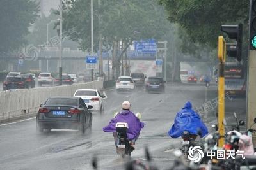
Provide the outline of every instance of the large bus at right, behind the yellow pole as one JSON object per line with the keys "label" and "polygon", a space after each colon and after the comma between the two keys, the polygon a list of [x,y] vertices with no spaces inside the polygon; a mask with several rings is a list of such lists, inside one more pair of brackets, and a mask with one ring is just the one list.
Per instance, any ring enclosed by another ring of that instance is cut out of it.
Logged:
{"label": "large bus at right, behind the yellow pole", "polygon": [[237,62],[226,62],[224,68],[225,94],[246,96],[246,72]]}

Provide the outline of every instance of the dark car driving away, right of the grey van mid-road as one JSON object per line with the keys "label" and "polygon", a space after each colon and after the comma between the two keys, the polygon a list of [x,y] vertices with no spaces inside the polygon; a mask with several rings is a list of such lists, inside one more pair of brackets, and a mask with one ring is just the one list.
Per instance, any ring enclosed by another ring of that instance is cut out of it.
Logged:
{"label": "dark car driving away, right of the grey van mid-road", "polygon": [[161,77],[148,77],[145,90],[147,92],[165,92],[165,81]]}

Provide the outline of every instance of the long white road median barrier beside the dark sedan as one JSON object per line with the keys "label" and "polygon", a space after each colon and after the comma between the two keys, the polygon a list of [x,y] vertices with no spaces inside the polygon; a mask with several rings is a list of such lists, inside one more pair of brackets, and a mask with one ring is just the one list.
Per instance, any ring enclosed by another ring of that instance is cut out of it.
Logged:
{"label": "long white road median barrier beside the dark sedan", "polygon": [[0,123],[35,115],[40,104],[51,96],[73,96],[77,89],[102,89],[103,80],[56,87],[6,90],[0,92]]}

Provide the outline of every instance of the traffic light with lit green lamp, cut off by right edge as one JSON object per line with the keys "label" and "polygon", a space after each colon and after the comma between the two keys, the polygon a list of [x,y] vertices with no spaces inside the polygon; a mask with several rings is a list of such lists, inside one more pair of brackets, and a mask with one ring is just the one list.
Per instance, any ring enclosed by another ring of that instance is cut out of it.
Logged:
{"label": "traffic light with lit green lamp, cut off by right edge", "polygon": [[250,1],[250,50],[256,50],[256,0]]}

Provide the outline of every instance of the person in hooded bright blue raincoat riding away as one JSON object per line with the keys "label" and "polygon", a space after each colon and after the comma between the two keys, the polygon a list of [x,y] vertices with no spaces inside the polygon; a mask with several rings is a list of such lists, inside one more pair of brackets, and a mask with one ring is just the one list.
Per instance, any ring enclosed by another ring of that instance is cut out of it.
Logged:
{"label": "person in hooded bright blue raincoat riding away", "polygon": [[202,122],[198,113],[192,109],[190,101],[177,113],[174,124],[168,134],[172,138],[178,138],[182,136],[182,132],[184,131],[188,131],[189,134],[193,135],[198,135],[198,132],[200,132],[201,137],[208,134],[207,127],[204,122]]}

